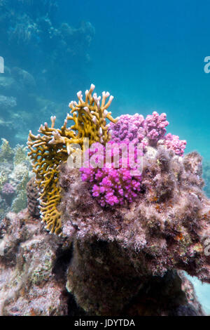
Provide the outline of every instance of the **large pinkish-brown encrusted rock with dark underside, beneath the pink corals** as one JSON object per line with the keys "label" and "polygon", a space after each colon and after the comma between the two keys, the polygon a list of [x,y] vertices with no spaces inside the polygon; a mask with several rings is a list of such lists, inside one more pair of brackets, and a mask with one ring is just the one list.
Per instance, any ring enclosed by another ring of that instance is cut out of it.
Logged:
{"label": "large pinkish-brown encrusted rock with dark underside, beneath the pink corals", "polygon": [[210,201],[201,174],[197,152],[177,157],[150,147],[138,199],[103,208],[79,171],[62,167],[63,232],[73,239],[66,287],[88,313],[118,315],[148,279],[168,271],[210,282]]}

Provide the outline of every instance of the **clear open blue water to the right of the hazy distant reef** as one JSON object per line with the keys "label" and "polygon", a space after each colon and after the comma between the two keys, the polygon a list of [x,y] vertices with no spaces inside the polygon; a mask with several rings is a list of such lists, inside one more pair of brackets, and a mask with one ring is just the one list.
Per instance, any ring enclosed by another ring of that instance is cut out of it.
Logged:
{"label": "clear open blue water to the right of the hazy distant reef", "polygon": [[62,19],[95,27],[87,70],[97,90],[115,96],[113,112],[166,112],[169,131],[188,141],[186,151],[209,159],[209,1],[61,4]]}

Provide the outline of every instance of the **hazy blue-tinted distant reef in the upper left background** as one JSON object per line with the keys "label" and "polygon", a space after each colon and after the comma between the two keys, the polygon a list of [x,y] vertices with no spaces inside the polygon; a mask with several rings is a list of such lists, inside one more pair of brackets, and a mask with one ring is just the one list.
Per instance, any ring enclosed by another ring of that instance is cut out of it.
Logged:
{"label": "hazy blue-tinted distant reef in the upper left background", "polygon": [[78,27],[59,22],[58,4],[0,0],[5,65],[0,74],[0,138],[12,145],[24,143],[28,128],[37,128],[40,117],[66,112],[71,91],[87,80],[94,27],[90,22],[78,22]]}

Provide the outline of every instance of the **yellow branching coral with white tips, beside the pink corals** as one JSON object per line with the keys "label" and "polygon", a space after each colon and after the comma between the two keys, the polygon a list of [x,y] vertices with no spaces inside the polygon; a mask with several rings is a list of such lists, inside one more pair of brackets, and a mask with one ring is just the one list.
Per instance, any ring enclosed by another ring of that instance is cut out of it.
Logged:
{"label": "yellow branching coral with white tips, beside the pink corals", "polygon": [[[33,171],[36,174],[36,185],[39,190],[41,218],[46,223],[45,228],[50,233],[61,235],[62,223],[57,206],[60,202],[59,164],[67,161],[69,155],[75,151],[74,144],[83,150],[83,139],[89,138],[89,144],[100,142],[106,144],[111,138],[106,125],[106,118],[116,123],[118,119],[111,117],[107,109],[111,105],[113,96],[103,92],[97,97],[94,85],[90,91],[85,91],[85,100],[82,92],[77,93],[78,103],[71,101],[71,111],[67,114],[62,128],[55,128],[56,117],[51,117],[51,126],[47,123],[41,125],[39,133],[34,136],[29,132],[29,157],[33,161]],[[109,100],[106,102],[106,100]],[[102,102],[101,102],[102,100]],[[68,121],[74,124],[67,127]]]}

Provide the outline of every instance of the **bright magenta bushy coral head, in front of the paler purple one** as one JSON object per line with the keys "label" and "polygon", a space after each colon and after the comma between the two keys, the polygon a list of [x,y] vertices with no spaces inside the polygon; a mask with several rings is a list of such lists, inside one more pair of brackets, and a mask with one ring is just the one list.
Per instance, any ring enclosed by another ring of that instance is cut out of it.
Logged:
{"label": "bright magenta bushy coral head, in front of the paler purple one", "polygon": [[[112,143],[108,143],[111,145]],[[120,146],[120,144],[119,144]],[[87,150],[86,154],[89,153],[90,162],[85,163],[85,167],[80,169],[82,173],[82,180],[87,181],[92,185],[92,196],[97,198],[97,201],[101,206],[107,205],[123,205],[125,202],[133,202],[138,196],[141,190],[141,174],[132,175],[132,171],[137,169],[137,150],[134,151],[134,160],[129,161],[123,158],[123,153],[120,152],[119,167],[116,168],[116,162],[113,160],[113,155],[116,155],[116,147],[111,150],[112,160],[111,163],[106,163],[104,154],[97,156],[98,164],[102,164],[104,160],[104,166],[102,168],[94,168],[91,165],[91,156],[94,155],[92,150]],[[98,150],[96,149],[95,152]],[[105,151],[105,148],[104,148]],[[123,168],[123,164],[127,164],[127,168]],[[131,163],[131,164],[130,164]],[[136,168],[131,167],[136,164]]]}

